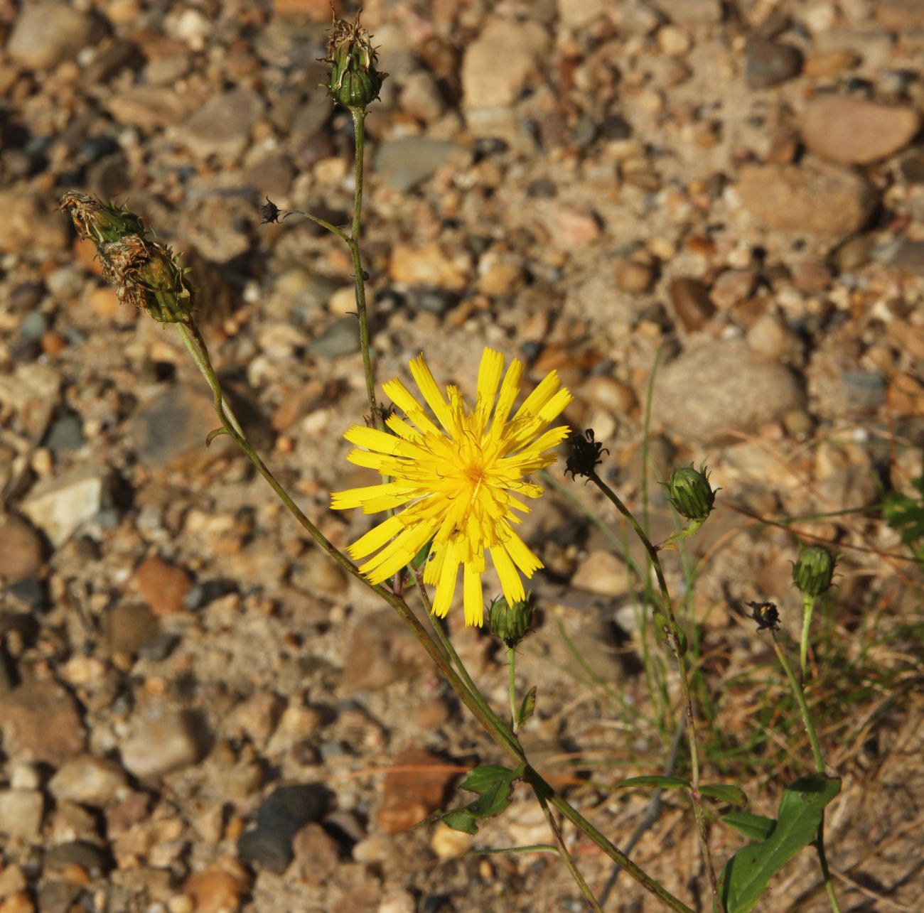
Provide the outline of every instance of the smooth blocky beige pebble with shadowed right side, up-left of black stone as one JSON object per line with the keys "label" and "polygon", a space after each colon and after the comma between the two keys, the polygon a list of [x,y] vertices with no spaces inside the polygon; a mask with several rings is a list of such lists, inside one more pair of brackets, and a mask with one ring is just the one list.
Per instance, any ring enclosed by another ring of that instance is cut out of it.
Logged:
{"label": "smooth blocky beige pebble with shadowed right side, up-left of black stone", "polygon": [[122,743],[122,763],[140,780],[164,776],[199,761],[207,736],[201,718],[188,712],[137,719]]}

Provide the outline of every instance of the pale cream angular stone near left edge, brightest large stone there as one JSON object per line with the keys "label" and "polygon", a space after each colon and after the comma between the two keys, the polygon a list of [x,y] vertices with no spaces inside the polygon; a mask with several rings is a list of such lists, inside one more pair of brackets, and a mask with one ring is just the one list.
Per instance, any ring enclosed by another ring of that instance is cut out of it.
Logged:
{"label": "pale cream angular stone near left edge, brightest large stone there", "polygon": [[108,469],[81,466],[60,479],[40,482],[21,510],[56,547],[67,542],[81,524],[112,506],[112,495],[113,475]]}

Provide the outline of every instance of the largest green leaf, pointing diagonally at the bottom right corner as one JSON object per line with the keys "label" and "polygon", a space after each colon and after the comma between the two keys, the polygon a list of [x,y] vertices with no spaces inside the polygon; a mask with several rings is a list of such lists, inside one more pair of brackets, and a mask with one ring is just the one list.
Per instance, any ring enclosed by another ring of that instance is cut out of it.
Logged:
{"label": "largest green leaf, pointing diagonally at the bottom right corner", "polygon": [[841,790],[841,781],[815,773],[787,786],[776,827],[760,843],[749,844],[728,860],[722,875],[727,913],[748,913],[771,878],[818,834],[824,807]]}

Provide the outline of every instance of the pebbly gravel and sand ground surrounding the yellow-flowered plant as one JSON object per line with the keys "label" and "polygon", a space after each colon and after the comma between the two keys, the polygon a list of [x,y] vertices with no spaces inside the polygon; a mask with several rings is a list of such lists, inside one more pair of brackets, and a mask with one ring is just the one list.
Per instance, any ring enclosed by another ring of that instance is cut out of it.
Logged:
{"label": "pebbly gravel and sand ground surrounding the yellow-flowered plant", "polygon": [[[653,482],[709,457],[723,491],[689,612],[738,744],[784,694],[740,605],[775,601],[784,636],[800,623],[796,542],[753,517],[805,517],[843,554],[829,858],[845,909],[919,909],[920,573],[864,508],[922,472],[924,6],[371,0],[363,19],[390,74],[363,222],[380,383],[423,350],[471,394],[484,345],[532,381],[557,369],[607,480],[639,509],[650,485],[655,538],[672,520]],[[327,0],[0,6],[0,913],[582,908],[552,857],[462,858],[549,840],[520,791],[474,839],[407,833],[495,750],[227,440],[204,448],[211,399],[178,337],[118,304],[54,211],[67,189],[128,200],[184,252],[253,439],[352,541],[368,520],[329,510],[370,478],[342,438],[365,411],[351,265],[317,226],[259,215],[269,196],[349,219],[349,117],[316,88],[329,20]],[[646,797],[605,787],[666,755],[638,601],[560,495],[525,528],[547,573],[524,740],[560,778],[569,752],[618,761],[571,797],[625,842]],[[459,652],[505,706],[503,656],[460,619]],[[556,621],[643,722],[588,683]],[[808,750],[795,716],[768,725],[751,752],[773,766],[707,774],[746,777],[772,814]],[[713,828],[720,861],[739,845]],[[608,866],[574,847],[599,891]],[[674,798],[635,856],[685,898],[704,883]],[[806,853],[760,909],[826,909],[817,888]],[[653,907],[626,879],[607,908]]]}

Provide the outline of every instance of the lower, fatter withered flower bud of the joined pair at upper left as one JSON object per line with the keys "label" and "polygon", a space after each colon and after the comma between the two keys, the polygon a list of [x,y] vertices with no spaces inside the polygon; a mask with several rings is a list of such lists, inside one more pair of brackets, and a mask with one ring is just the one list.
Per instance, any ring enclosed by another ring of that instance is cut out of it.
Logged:
{"label": "lower, fatter withered flower bud of the joined pair at upper left", "polygon": [[134,304],[158,323],[188,323],[196,289],[170,248],[138,235],[99,247],[103,276],[116,286],[120,301]]}

